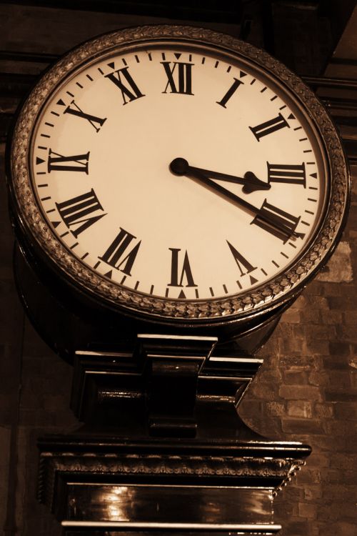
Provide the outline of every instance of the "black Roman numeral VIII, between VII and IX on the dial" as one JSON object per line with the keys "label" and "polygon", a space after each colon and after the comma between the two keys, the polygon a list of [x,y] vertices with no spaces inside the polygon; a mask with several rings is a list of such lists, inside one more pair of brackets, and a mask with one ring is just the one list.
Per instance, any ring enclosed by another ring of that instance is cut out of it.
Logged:
{"label": "black Roman numeral VIII, between VII and IX on the dial", "polygon": [[[73,197],[68,201],[56,203],[56,207],[64,223],[76,238],[81,232],[84,232],[88,227],[91,227],[99,219],[106,216],[106,214],[90,216],[90,214],[94,214],[97,211],[104,212],[93,188],[90,192],[86,192],[86,194]],[[71,229],[73,226],[76,229]]]}

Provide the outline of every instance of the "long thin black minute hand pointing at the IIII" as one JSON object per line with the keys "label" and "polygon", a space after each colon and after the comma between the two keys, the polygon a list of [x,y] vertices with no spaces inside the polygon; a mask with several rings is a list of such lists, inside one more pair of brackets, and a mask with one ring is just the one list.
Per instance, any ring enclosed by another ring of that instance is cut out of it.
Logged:
{"label": "long thin black minute hand pointing at the IIII", "polygon": [[[249,212],[252,212],[256,215],[257,220],[261,220],[262,222],[265,222],[273,229],[276,229],[276,232],[278,232],[277,236],[283,235],[283,237],[286,237],[287,239],[291,238],[299,238],[303,235],[293,231],[291,227],[288,227],[288,225],[284,225],[281,222],[281,219],[274,214],[266,214],[266,212],[262,212],[261,209],[258,209],[253,204],[246,201],[246,199],[243,199],[242,197],[238,197],[238,195],[233,194],[230,190],[227,190],[226,188],[223,188],[221,184],[217,184],[216,182],[212,181],[211,179],[208,179],[206,175],[202,172],[201,169],[195,169],[193,167],[188,166],[188,172],[187,174],[181,171],[178,172],[178,166],[175,164],[178,159],[174,159],[170,164],[171,172],[173,172],[176,175],[186,175],[186,177],[190,179],[196,179],[198,182],[201,182],[201,184],[204,184],[208,188],[212,189],[217,194],[221,194],[223,197],[226,197],[226,199],[230,199],[233,201],[233,203],[238,204],[238,207],[243,207],[244,209],[247,209]],[[179,159],[183,160],[183,159]],[[186,161],[185,161],[186,162]],[[285,240],[285,242],[286,242]]]}

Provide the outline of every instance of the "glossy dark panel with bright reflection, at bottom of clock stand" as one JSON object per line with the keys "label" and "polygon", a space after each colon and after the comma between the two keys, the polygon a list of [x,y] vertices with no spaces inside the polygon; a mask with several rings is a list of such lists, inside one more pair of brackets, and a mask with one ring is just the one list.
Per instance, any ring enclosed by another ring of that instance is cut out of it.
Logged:
{"label": "glossy dark panel with bright reflection, at bottom of clock stand", "polygon": [[65,522],[71,526],[99,522],[238,530],[238,525],[273,523],[273,490],[267,488],[71,482],[67,493],[71,506]]}

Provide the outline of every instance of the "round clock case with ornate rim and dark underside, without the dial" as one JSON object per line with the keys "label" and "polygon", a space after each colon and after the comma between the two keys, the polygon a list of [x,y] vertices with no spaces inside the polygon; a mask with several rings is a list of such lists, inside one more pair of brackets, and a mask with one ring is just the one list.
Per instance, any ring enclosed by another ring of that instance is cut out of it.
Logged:
{"label": "round clock case with ornate rim and dark underside, without the dial", "polygon": [[[306,250],[289,269],[249,292],[223,299],[193,301],[161,299],[120,288],[85,267],[72,257],[66,247],[59,244],[44,222],[31,194],[27,153],[31,129],[51,91],[56,89],[64,76],[104,51],[160,41],[208,48],[213,46],[217,51],[238,54],[250,61],[268,76],[273,76],[294,96],[298,106],[306,111],[309,121],[321,136],[331,185],[319,227]],[[80,335],[83,323],[86,326],[84,332],[89,329],[93,334],[99,333],[101,342],[111,341],[112,335],[116,340],[121,334],[124,334],[124,339],[131,339],[143,330],[163,333],[174,331],[179,334],[211,334],[218,337],[219,344],[235,340],[235,349],[237,340],[241,339],[243,351],[256,351],[272,332],[283,310],[291,305],[308,280],[326,263],[341,237],[346,221],[350,192],[346,157],[336,128],[316,96],[301,79],[266,52],[231,36],[206,29],[171,25],[143,26],[111,32],[76,47],[46,72],[20,107],[8,148],[6,161],[10,205],[19,242],[15,262],[19,291],[29,316],[40,331],[44,319],[36,304],[46,292],[50,292],[54,299],[52,314],[60,319],[51,324],[56,323],[59,327],[66,324],[69,317],[72,318],[69,324],[75,324],[72,331],[78,334],[78,339],[73,342],[67,340],[66,344],[57,347],[57,351],[64,354],[64,357],[84,344],[86,335],[84,339]],[[24,259],[20,260],[20,257]],[[30,288],[25,289],[24,272],[29,270],[34,271],[36,276],[29,276],[33,279],[27,284]],[[34,277],[39,282],[34,297],[31,297]],[[46,334],[46,329],[42,329],[42,334],[48,342],[54,338],[66,340],[63,332],[60,333],[61,337],[57,336],[59,333],[54,337],[51,333]],[[67,329],[64,331],[67,332]],[[254,339],[256,343],[253,342]]]}

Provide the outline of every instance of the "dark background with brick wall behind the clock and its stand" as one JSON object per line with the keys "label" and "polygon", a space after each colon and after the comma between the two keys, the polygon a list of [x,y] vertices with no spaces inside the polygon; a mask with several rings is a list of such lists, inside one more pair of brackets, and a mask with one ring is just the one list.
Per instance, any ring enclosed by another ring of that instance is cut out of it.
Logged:
{"label": "dark background with brick wall behind the clock and its stand", "polygon": [[356,536],[355,0],[0,3],[0,534],[60,534],[36,502],[36,439],[78,426],[69,410],[71,367],[41,342],[14,286],[6,131],[19,100],[59,54],[105,31],[173,21],[224,31],[266,49],[316,89],[341,131],[353,182],[341,244],[259,352],[264,364],[239,413],[269,439],[313,447],[306,467],[276,499],[281,536]]}

